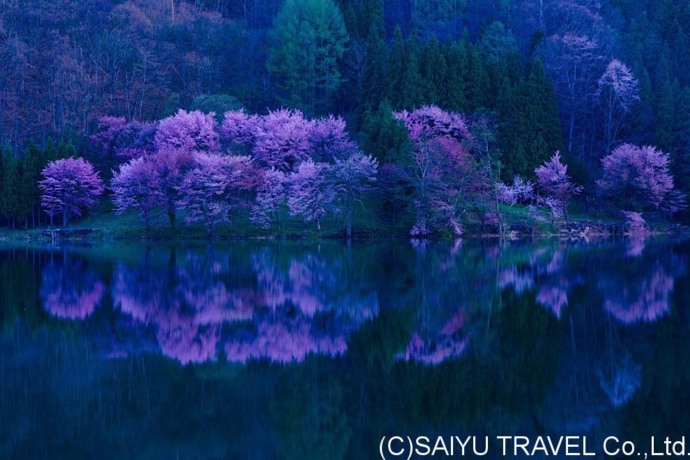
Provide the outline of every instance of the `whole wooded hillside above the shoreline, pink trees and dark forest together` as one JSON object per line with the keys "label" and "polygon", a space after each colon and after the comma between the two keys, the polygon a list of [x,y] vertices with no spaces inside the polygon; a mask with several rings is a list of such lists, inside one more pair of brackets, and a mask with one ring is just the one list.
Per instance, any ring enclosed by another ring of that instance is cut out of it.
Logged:
{"label": "whole wooded hillside above the shoreline, pink trees and dark forest together", "polygon": [[682,219],[689,45],[672,0],[0,0],[0,222]]}

